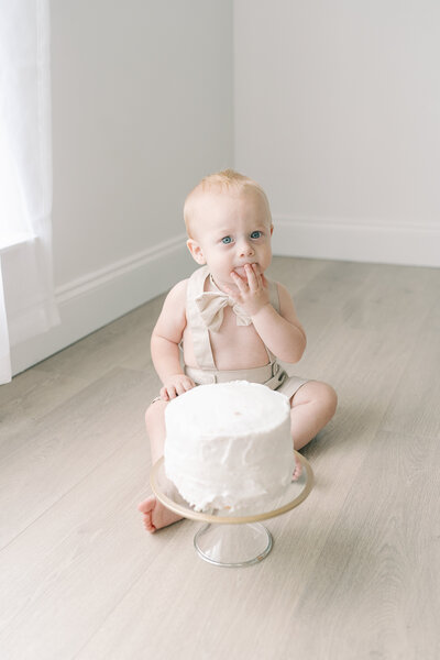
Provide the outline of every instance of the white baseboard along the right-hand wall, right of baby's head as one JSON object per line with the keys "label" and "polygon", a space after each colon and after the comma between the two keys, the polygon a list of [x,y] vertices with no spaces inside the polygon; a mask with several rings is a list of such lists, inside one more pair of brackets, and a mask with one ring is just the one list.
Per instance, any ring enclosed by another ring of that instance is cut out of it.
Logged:
{"label": "white baseboard along the right-hand wall, right of baby's head", "polygon": [[274,216],[282,256],[440,266],[440,226],[378,224]]}

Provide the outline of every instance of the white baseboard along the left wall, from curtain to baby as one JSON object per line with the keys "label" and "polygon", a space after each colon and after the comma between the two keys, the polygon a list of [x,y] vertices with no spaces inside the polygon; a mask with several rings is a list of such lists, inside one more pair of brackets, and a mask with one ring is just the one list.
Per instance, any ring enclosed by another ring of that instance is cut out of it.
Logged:
{"label": "white baseboard along the left wall, from curtain to baby", "polygon": [[12,346],[13,375],[166,292],[195,267],[183,234],[57,287],[62,322]]}

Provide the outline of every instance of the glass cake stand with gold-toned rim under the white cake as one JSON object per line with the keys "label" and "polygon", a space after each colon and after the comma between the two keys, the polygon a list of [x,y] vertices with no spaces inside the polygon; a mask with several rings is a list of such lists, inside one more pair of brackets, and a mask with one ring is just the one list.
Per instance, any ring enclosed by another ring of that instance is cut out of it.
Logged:
{"label": "glass cake stand with gold-toned rim under the white cake", "polygon": [[229,514],[224,509],[196,512],[167,479],[163,458],[153,465],[151,485],[166,508],[184,518],[205,522],[194,538],[195,548],[205,561],[219,566],[246,566],[262,561],[272,550],[272,535],[261,520],[292,510],[306,499],[314,486],[309,462],[297,451],[295,454],[302,465],[300,477],[270,507],[255,506],[255,512],[246,515]]}

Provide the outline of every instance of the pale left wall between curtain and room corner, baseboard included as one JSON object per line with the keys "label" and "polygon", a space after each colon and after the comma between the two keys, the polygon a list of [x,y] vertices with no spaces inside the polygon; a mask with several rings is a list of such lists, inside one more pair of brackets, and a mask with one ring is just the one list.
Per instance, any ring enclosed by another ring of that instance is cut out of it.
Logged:
{"label": "pale left wall between curtain and room corner, baseboard included", "polygon": [[233,162],[232,0],[54,1],[51,21],[62,324],[14,373],[194,270],[185,196]]}

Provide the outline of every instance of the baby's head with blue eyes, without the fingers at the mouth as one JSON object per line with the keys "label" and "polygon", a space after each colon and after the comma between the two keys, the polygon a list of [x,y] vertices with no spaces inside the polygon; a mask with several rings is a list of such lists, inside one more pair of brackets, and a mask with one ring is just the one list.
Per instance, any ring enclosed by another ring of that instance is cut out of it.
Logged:
{"label": "baby's head with blue eyes, without the fingers at the mouth", "polygon": [[226,169],[205,177],[185,201],[187,245],[195,261],[208,264],[215,280],[233,284],[254,263],[264,273],[272,260],[273,231],[267,197],[253,179]]}

